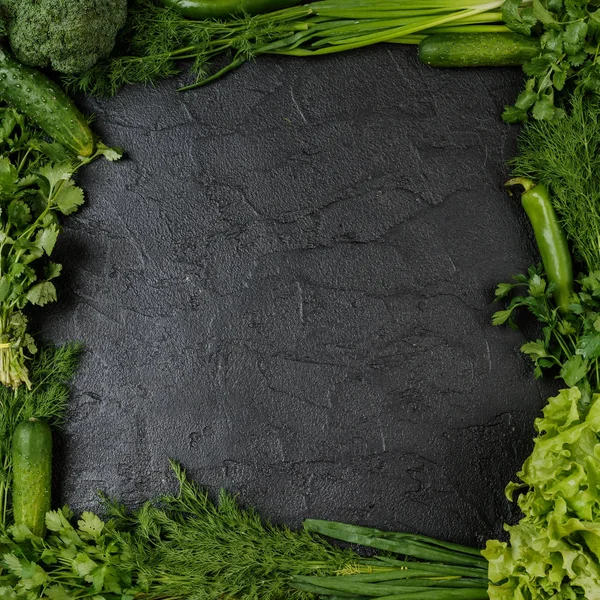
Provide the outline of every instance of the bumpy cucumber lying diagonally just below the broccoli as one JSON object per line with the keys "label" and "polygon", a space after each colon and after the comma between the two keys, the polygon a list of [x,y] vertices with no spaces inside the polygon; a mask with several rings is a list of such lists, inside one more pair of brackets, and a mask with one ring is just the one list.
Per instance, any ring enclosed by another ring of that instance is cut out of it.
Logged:
{"label": "bumpy cucumber lying diagonally just below the broccoli", "polygon": [[36,69],[22,65],[2,49],[0,99],[29,117],[74,154],[93,154],[92,132],[72,100],[56,83]]}

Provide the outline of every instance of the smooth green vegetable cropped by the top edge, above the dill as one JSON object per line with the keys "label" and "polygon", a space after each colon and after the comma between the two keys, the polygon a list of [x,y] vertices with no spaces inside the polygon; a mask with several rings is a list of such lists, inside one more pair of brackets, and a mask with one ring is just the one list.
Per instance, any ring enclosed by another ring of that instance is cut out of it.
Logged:
{"label": "smooth green vegetable cropped by the top edge, above the dill", "polygon": [[161,0],[188,19],[227,19],[258,15],[300,4],[303,0]]}

